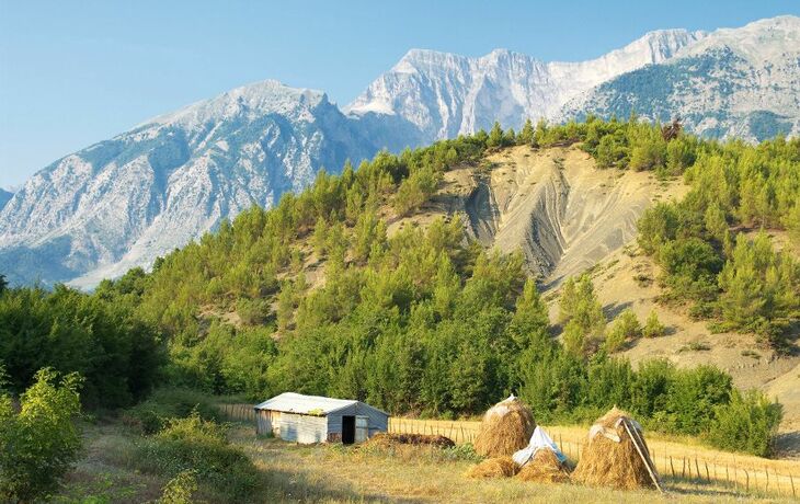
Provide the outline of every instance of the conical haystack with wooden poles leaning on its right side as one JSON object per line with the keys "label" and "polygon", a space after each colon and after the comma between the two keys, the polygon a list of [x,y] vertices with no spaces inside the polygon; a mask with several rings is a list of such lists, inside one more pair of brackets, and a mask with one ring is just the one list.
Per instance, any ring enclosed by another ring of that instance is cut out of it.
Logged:
{"label": "conical haystack with wooden poles leaning on its right side", "polygon": [[[629,431],[638,440],[631,439]],[[616,408],[598,419],[588,432],[572,479],[621,490],[658,486],[655,466],[639,423]]]}

